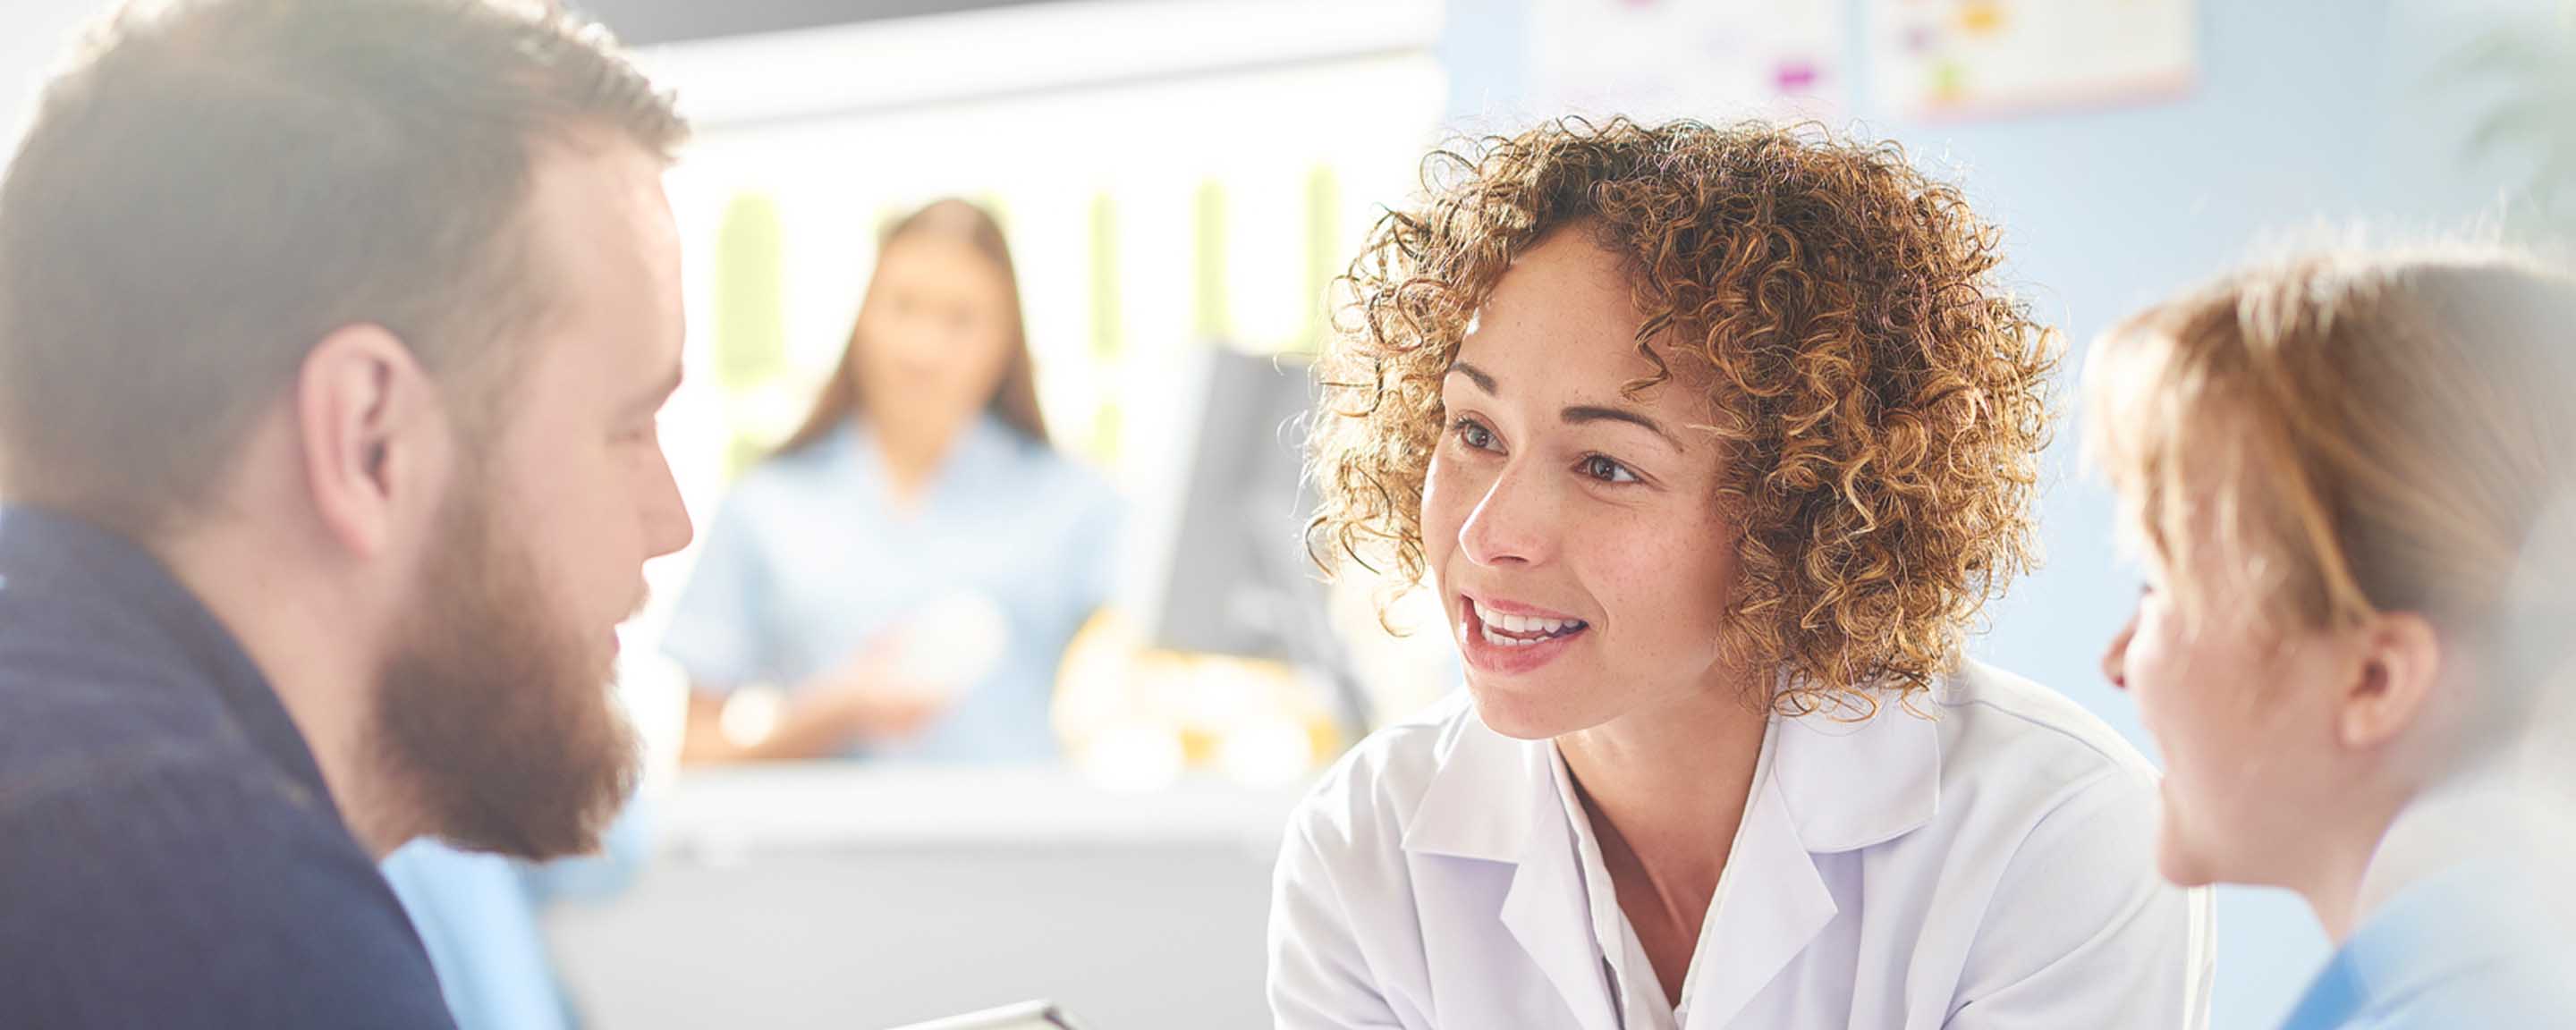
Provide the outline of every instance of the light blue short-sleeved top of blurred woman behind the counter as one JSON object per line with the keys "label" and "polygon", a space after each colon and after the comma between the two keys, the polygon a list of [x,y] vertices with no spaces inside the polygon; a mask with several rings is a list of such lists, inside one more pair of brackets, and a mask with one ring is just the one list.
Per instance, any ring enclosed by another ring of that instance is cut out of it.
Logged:
{"label": "light blue short-sleeved top of blurred woman behind the counter", "polygon": [[1056,664],[1110,595],[1115,536],[1108,482],[994,415],[963,433],[909,510],[853,420],[734,484],[662,651],[708,690],[796,690],[907,615],[979,592],[1010,626],[994,672],[920,736],[858,744],[850,757],[1048,762]]}

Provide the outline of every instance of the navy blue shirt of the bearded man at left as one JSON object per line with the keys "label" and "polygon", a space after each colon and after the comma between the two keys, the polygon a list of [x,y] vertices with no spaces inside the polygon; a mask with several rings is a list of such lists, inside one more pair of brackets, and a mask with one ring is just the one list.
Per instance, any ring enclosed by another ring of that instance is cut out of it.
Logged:
{"label": "navy blue shirt of the bearded man at left", "polygon": [[453,1027],[232,633],[152,554],[23,507],[0,510],[0,1027]]}

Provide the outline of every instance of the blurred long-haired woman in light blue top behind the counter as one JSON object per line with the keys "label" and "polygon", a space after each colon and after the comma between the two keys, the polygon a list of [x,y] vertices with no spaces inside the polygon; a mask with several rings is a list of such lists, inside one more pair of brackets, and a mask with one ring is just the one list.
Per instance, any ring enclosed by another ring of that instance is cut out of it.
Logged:
{"label": "blurred long-haired woman in light blue top behind the counter", "polygon": [[1118,502],[1059,453],[1002,227],[894,221],[840,368],[734,484],[665,651],[683,762],[1043,762],[1074,631],[1108,600]]}

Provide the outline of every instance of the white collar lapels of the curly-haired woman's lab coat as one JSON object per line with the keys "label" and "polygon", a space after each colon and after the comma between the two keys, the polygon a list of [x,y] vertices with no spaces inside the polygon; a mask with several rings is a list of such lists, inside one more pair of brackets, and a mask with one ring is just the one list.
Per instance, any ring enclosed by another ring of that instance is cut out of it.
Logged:
{"label": "white collar lapels of the curly-haired woman's lab coat", "polygon": [[[1772,718],[1772,775],[1747,803],[1721,914],[1695,955],[1692,1027],[1734,1020],[1834,919],[1839,906],[1814,855],[1901,837],[1940,806],[1937,729],[1904,706],[1878,708],[1870,718]],[[1468,711],[1404,850],[1515,865],[1504,927],[1587,1030],[1613,1030],[1574,829],[1551,762],[1548,742],[1494,734]]]}

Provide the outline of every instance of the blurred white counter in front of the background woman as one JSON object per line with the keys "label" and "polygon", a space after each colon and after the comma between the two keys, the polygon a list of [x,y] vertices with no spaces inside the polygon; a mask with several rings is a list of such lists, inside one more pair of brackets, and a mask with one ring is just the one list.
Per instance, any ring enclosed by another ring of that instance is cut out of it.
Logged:
{"label": "blurred white counter in front of the background woman", "polygon": [[1092,1030],[1262,1027],[1270,860],[1301,793],[690,772],[636,883],[546,930],[600,1030],[873,1030],[1036,997]]}

